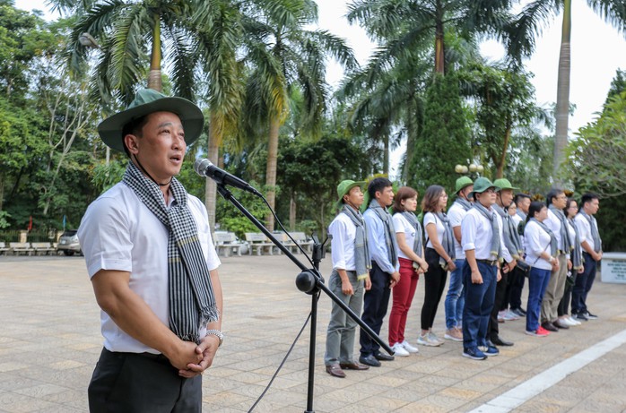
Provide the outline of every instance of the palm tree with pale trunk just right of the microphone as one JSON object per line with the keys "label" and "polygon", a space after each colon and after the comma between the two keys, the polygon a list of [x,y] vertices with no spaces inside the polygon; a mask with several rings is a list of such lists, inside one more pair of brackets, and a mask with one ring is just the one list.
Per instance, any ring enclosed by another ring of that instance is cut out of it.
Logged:
{"label": "palm tree with pale trunk just right of the microphone", "polygon": [[[244,13],[250,74],[242,113],[248,136],[267,133],[266,197],[274,208],[278,136],[289,113],[291,90],[300,89],[303,98],[303,132],[316,136],[326,109],[326,56],[349,69],[357,64],[343,39],[324,30],[305,29],[317,21],[317,4],[312,0],[258,0],[248,2]],[[266,223],[274,229],[272,214]]]}

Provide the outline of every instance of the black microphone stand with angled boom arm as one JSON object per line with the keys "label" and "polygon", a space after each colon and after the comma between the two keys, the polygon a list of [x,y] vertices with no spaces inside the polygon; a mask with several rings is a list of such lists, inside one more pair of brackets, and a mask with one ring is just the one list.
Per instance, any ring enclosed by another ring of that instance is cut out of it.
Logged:
{"label": "black microphone stand with angled boom arm", "polygon": [[394,351],[389,347],[389,345],[378,337],[378,334],[374,332],[369,325],[364,323],[361,320],[359,315],[354,314],[354,312],[350,309],[348,305],[345,305],[339,297],[335,296],[333,291],[326,287],[324,284],[324,278],[319,272],[319,261],[321,260],[321,246],[318,242],[316,242],[317,246],[317,254],[316,248],[314,247],[314,268],[307,268],[300,260],[293,254],[291,254],[291,250],[283,245],[274,235],[267,229],[265,226],[258,220],[254,215],[252,215],[241,203],[230,193],[230,190],[223,185],[222,183],[218,183],[217,192],[219,192],[225,200],[232,203],[239,211],[241,211],[253,224],[255,224],[256,228],[259,228],[261,232],[265,234],[266,237],[269,238],[270,241],[274,245],[278,247],[283,254],[287,255],[287,257],[296,264],[301,270],[300,274],[296,277],[296,287],[300,289],[300,291],[307,293],[311,296],[311,329],[310,329],[310,345],[309,345],[309,386],[307,389],[307,409],[305,413],[315,413],[313,410],[313,392],[314,392],[314,380],[315,380],[315,347],[316,347],[316,329],[317,329],[317,292],[319,290],[324,291],[326,296],[330,297],[336,305],[339,305],[343,311],[348,314],[352,320],[354,320],[361,329],[366,331],[372,340],[376,341],[378,345],[387,351],[388,354],[393,354]]}

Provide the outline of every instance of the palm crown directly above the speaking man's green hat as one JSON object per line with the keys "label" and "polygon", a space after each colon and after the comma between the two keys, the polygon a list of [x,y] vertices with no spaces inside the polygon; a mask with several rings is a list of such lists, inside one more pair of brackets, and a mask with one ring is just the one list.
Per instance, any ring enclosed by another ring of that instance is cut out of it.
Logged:
{"label": "palm crown directly above the speaking man's green hat", "polygon": [[[129,103],[137,86],[162,90],[161,65],[171,66],[176,95],[194,99],[197,54],[196,27],[191,17],[199,0],[56,0],[62,11],[78,15],[68,53],[70,67],[89,56],[83,33],[100,43],[96,65],[100,97]],[[147,81],[147,82],[146,82]]]}

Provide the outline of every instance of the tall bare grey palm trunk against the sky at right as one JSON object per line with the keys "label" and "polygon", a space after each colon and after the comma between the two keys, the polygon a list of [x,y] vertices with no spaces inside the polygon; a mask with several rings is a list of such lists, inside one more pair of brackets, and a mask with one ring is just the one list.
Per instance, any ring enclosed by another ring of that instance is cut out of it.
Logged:
{"label": "tall bare grey palm trunk against the sky at right", "polygon": [[554,136],[554,166],[552,175],[554,183],[561,186],[559,169],[563,162],[565,147],[568,144],[569,123],[569,73],[571,35],[571,0],[563,4],[563,27],[561,32],[561,55],[559,56],[559,80],[556,92],[556,134]]}

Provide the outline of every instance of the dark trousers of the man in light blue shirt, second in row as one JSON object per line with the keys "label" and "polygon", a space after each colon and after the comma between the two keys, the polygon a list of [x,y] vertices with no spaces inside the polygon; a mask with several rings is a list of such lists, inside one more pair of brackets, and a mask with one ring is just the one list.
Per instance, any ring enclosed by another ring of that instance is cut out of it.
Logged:
{"label": "dark trousers of the man in light blue shirt, second in row", "polygon": [[[380,328],[383,325],[383,319],[387,314],[387,307],[389,306],[389,296],[391,295],[391,288],[389,288],[389,280],[391,274],[382,271],[376,262],[371,262],[370,291],[365,291],[363,295],[363,315],[361,320],[363,323],[368,324],[370,329],[380,335]],[[374,340],[371,340],[370,335],[361,329],[360,340],[361,344],[361,356],[368,357],[370,355],[378,353],[380,346]]]}

